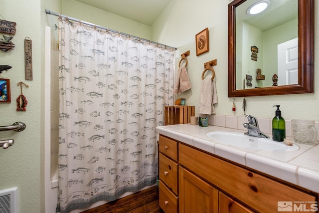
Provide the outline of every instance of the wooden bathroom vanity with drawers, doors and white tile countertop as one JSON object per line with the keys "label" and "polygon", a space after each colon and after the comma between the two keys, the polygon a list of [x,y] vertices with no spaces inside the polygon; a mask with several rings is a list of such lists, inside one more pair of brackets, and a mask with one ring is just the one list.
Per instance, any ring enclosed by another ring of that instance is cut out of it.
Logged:
{"label": "wooden bathroom vanity with drawers, doors and white tile countertop", "polygon": [[217,126],[181,124],[157,131],[165,213],[318,211],[319,171],[294,163],[309,152],[319,154],[318,146],[298,145],[291,152],[241,148],[206,136],[240,131]]}

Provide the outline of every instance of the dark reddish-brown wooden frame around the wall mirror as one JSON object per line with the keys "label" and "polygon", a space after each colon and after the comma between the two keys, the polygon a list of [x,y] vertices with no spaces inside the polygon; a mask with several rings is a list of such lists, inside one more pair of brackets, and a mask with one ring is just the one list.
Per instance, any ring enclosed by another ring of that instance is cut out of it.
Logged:
{"label": "dark reddish-brown wooden frame around the wall mirror", "polygon": [[228,97],[314,92],[314,0],[298,0],[298,84],[236,90],[236,7],[228,4]]}

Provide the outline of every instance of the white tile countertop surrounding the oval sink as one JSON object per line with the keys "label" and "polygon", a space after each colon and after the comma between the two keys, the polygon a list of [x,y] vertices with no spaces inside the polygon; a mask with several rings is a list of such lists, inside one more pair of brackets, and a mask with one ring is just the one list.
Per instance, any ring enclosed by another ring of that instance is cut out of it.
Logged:
{"label": "white tile countertop surrounding the oval sink", "polygon": [[245,132],[190,124],[157,127],[157,133],[161,135],[319,193],[319,143],[312,146],[295,143],[299,146],[296,151],[266,151],[220,143],[206,136],[211,131]]}

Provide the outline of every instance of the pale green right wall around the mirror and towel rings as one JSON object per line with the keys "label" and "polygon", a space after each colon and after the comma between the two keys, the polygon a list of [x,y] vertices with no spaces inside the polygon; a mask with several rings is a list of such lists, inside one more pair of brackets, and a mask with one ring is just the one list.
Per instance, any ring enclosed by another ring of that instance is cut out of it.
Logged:
{"label": "pale green right wall around the mirror and towel rings", "polygon": [[[243,116],[242,100],[235,98],[236,111],[232,111],[233,98],[227,97],[228,88],[228,4],[231,0],[173,0],[152,25],[152,40],[177,47],[175,65],[178,66],[180,54],[190,50],[188,59],[188,77],[191,89],[178,95],[186,98],[187,105],[194,105],[196,112],[199,106],[201,73],[204,63],[217,59],[214,67],[218,104],[217,115]],[[319,4],[315,1],[315,55],[319,53]],[[196,56],[195,34],[209,28],[210,50]],[[315,93],[296,95],[276,95],[246,97],[247,114],[259,118],[273,118],[273,105],[281,105],[285,119],[310,119],[319,121],[319,58],[314,57]],[[197,114],[197,113],[196,113]]]}

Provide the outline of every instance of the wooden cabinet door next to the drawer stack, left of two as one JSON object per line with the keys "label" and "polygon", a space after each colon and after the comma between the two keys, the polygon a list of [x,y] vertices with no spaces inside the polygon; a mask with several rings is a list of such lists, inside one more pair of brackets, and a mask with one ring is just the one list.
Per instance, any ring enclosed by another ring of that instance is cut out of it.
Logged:
{"label": "wooden cabinet door next to the drawer stack, left of two", "polygon": [[179,213],[218,213],[218,190],[179,167]]}

